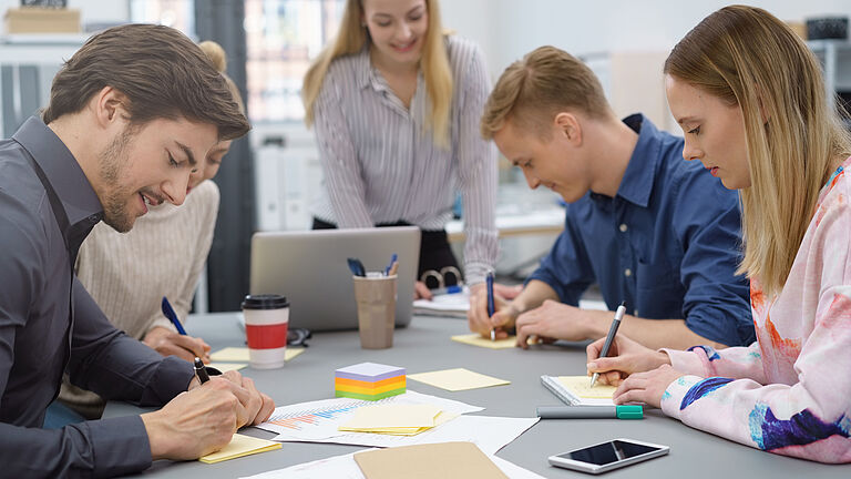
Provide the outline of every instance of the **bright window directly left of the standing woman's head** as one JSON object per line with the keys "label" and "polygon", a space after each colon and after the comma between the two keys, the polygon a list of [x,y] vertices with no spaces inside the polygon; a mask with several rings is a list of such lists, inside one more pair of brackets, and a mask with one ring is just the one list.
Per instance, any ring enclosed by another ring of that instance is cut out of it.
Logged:
{"label": "bright window directly left of the standing woman's head", "polygon": [[342,0],[245,0],[252,122],[304,118],[301,79],[337,31],[344,7]]}

